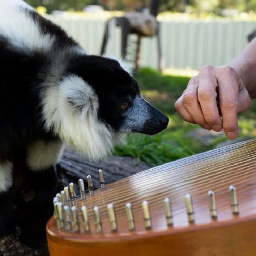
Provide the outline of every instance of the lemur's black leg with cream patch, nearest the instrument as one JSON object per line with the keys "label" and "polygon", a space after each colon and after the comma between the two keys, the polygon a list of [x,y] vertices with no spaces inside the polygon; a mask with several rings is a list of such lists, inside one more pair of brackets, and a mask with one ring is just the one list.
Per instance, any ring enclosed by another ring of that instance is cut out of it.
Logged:
{"label": "lemur's black leg with cream patch, nearest the instrument", "polygon": [[63,143],[57,140],[37,141],[27,148],[28,170],[24,180],[35,196],[25,206],[21,241],[31,247],[46,239],[45,226],[53,214],[52,199],[58,191],[55,165],[59,163],[63,150]]}

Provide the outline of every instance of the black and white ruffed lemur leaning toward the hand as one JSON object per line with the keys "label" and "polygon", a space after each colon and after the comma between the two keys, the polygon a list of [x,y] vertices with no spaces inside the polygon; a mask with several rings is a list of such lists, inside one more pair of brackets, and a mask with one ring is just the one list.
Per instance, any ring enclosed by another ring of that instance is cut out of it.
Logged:
{"label": "black and white ruffed lemur leaning toward the hand", "polygon": [[[87,54],[22,0],[0,0],[0,234],[13,225],[17,177],[52,203],[64,143],[97,160],[127,133],[153,135],[167,124],[123,62]],[[44,211],[40,200],[29,202],[26,225],[29,212]]]}

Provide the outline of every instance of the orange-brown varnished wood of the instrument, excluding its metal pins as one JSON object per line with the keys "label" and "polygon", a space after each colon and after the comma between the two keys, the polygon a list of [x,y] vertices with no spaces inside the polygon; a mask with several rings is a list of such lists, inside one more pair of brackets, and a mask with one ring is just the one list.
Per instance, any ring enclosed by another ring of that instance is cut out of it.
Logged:
{"label": "orange-brown varnished wood of the instrument, excluding its metal pins", "polygon": [[[47,225],[51,256],[109,255],[255,255],[256,139],[208,151],[154,167],[106,185],[106,191],[87,195],[91,234]],[[232,215],[229,185],[237,188],[239,214]],[[210,218],[208,190],[216,195],[218,219]],[[189,224],[184,196],[191,193],[195,223]],[[167,227],[163,199],[172,202],[173,227]],[[145,230],[141,203],[148,200],[152,229]],[[135,231],[128,231],[124,204],[131,202]],[[106,206],[114,203],[118,231],[110,231]],[[78,199],[78,206],[82,201]],[[103,233],[95,234],[92,210],[101,211]],[[79,208],[78,207],[78,208]],[[80,219],[80,216],[79,216]]]}

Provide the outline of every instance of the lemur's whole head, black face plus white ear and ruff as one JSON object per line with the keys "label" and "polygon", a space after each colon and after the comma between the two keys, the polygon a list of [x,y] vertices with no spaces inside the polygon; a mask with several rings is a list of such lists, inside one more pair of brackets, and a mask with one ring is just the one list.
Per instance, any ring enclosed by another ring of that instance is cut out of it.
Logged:
{"label": "lemur's whole head, black face plus white ear and ruff", "polygon": [[45,97],[46,128],[91,159],[108,155],[127,133],[153,135],[167,127],[169,119],[141,97],[136,80],[116,60],[76,57],[59,84]]}

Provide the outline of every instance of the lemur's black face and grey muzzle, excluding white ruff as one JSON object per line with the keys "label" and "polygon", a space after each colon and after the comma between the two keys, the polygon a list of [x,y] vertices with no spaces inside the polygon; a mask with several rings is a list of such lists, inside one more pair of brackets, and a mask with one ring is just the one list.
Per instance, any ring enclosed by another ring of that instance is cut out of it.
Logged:
{"label": "lemur's black face and grey muzzle, excluding white ruff", "polygon": [[125,63],[99,56],[89,58],[91,68],[83,78],[97,94],[99,120],[121,133],[154,135],[167,127],[169,119],[141,97]]}

